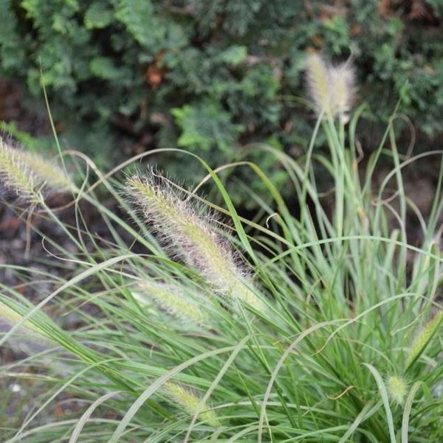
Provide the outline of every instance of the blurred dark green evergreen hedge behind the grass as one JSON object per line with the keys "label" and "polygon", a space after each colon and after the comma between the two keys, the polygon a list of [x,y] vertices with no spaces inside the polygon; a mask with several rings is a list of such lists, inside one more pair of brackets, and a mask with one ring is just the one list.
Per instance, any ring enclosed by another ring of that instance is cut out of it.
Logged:
{"label": "blurred dark green evergreen hedge behind the grass", "polygon": [[[0,77],[22,85],[22,105],[36,114],[45,112],[43,82],[65,146],[102,167],[178,146],[213,167],[247,156],[282,189],[285,171],[251,144],[303,153],[315,124],[308,50],[331,61],[353,54],[368,104],[363,147],[365,137],[375,147],[399,98],[419,149],[443,133],[442,15],[442,0],[1,0]],[[0,115],[32,145],[20,117]],[[183,157],[156,161],[200,179]],[[237,178],[260,195],[252,172]]]}

